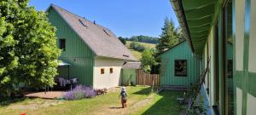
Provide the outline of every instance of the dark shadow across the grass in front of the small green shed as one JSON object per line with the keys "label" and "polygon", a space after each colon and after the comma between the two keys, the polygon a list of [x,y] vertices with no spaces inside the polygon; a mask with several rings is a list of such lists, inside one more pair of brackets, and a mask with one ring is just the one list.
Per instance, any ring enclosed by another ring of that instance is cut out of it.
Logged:
{"label": "dark shadow across the grass in front of the small green shed", "polygon": [[143,115],[179,115],[182,110],[178,107],[177,97],[183,95],[183,91],[162,91],[159,101],[150,106]]}

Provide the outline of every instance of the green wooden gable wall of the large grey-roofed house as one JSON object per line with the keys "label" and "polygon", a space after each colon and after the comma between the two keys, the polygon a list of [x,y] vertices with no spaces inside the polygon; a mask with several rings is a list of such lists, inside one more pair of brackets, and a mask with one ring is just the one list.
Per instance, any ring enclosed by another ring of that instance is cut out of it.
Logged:
{"label": "green wooden gable wall of the large grey-roofed house", "polygon": [[[48,17],[49,22],[57,29],[56,37],[66,39],[66,50],[62,51],[60,59],[70,64],[70,78],[79,78],[79,83],[92,85],[94,53],[54,9],[48,10]],[[57,44],[58,42],[59,40]],[[60,76],[67,77],[65,71],[67,69],[61,68]]]}

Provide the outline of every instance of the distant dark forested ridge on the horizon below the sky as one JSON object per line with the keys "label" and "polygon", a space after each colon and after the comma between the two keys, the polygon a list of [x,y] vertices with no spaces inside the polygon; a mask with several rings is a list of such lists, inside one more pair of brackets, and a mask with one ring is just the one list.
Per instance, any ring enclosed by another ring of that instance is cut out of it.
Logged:
{"label": "distant dark forested ridge on the horizon below the sky", "polygon": [[126,41],[136,41],[140,43],[154,43],[154,44],[159,43],[159,37],[149,37],[149,36],[139,35],[139,36],[119,37],[119,38],[123,38]]}

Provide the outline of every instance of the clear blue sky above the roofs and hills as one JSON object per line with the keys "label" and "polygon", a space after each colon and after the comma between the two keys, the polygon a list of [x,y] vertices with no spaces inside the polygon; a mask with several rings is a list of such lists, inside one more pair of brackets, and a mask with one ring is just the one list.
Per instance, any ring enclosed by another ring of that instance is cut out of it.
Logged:
{"label": "clear blue sky above the roofs and hills", "polygon": [[31,0],[30,6],[45,10],[50,3],[108,27],[118,37],[159,37],[166,16],[177,19],[169,0]]}

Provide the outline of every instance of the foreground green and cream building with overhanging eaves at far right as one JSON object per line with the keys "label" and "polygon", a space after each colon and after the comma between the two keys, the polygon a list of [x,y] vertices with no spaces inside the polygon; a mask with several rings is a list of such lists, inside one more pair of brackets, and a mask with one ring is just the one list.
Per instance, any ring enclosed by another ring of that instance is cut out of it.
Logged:
{"label": "foreground green and cream building with overhanging eaves at far right", "polygon": [[[256,0],[171,0],[189,48],[210,59],[207,114],[256,113]],[[233,55],[233,56],[230,56]],[[231,80],[230,80],[231,79]],[[230,91],[229,87],[233,86]]]}

